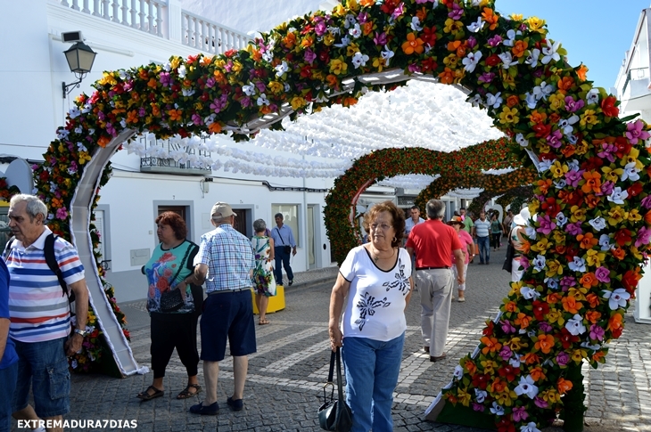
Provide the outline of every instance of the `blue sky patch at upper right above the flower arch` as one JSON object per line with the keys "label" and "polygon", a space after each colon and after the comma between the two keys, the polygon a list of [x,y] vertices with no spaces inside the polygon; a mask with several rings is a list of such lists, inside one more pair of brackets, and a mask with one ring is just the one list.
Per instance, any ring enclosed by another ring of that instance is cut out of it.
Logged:
{"label": "blue sky patch at upper right above the flower arch", "polygon": [[651,0],[496,0],[503,14],[522,13],[547,21],[549,37],[567,50],[570,64],[588,66],[595,86],[614,86],[642,9]]}

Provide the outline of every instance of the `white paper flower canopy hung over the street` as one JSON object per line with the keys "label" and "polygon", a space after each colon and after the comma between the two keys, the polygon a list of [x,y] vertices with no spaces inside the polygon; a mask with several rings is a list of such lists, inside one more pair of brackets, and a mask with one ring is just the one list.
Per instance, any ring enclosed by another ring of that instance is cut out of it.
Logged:
{"label": "white paper flower canopy hung over the street", "polygon": [[[400,78],[406,77],[400,74]],[[388,79],[395,80],[396,74],[383,82]],[[148,145],[136,140],[126,144],[126,148],[141,158],[171,158],[215,171],[334,178],[350,168],[354,159],[371,151],[390,147],[456,151],[502,136],[485,112],[466,102],[466,94],[461,90],[427,81],[412,79],[408,86],[391,93],[369,93],[350,108],[335,105],[317,115],[301,116],[295,122],[284,118],[284,131],[261,129],[250,143],[225,145],[221,136],[175,137],[170,142],[177,144],[179,150],[167,151],[156,145],[153,135],[148,135]],[[257,126],[261,126],[260,120]],[[266,152],[257,151],[256,147]],[[196,150],[209,152],[210,156],[198,156]],[[285,155],[278,155],[279,151]],[[296,159],[292,154],[308,159]],[[381,184],[422,189],[432,181],[429,175],[405,175]]]}

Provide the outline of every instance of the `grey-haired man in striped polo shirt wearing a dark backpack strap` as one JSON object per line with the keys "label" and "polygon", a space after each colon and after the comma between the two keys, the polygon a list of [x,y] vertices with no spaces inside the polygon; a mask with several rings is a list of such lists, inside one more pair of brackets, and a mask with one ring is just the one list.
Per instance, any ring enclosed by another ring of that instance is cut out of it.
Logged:
{"label": "grey-haired man in striped polo shirt wearing a dark backpack strap", "polygon": [[[63,281],[75,294],[77,323],[72,336],[70,304],[57,275],[45,261],[47,207],[33,195],[12,197],[9,226],[15,240],[4,251],[11,275],[9,336],[19,357],[13,394],[13,418],[62,420],[70,412],[70,372],[67,355],[81,349],[86,336],[88,289],[77,249],[61,237],[54,239],[54,257]],[[28,403],[32,386],[34,408]],[[47,430],[62,430],[48,428]]]}

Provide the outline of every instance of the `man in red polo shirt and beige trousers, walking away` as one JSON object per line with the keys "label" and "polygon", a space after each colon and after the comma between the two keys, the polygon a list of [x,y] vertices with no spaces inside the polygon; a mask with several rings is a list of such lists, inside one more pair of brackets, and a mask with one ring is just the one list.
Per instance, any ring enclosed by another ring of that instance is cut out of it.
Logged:
{"label": "man in red polo shirt and beige trousers, walking away", "polygon": [[417,224],[409,233],[406,248],[416,253],[416,285],[420,291],[421,333],[424,350],[430,361],[445,358],[443,349],[448,338],[449,310],[452,303],[452,256],[457,265],[457,281],[464,283],[464,253],[457,232],[443,224],[445,204],[427,201],[427,221]]}

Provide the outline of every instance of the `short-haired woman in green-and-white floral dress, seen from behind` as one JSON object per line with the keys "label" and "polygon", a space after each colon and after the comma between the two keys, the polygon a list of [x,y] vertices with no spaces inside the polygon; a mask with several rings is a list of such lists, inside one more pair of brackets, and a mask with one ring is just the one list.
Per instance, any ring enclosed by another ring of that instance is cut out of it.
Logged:
{"label": "short-haired woman in green-and-white floral dress, seen from behind", "polygon": [[267,306],[269,297],[269,284],[274,283],[274,273],[270,265],[274,261],[274,240],[266,235],[267,224],[262,219],[253,222],[255,235],[251,238],[253,253],[255,254],[255,270],[253,270],[253,288],[255,289],[255,306],[260,312],[260,325],[268,324]]}

